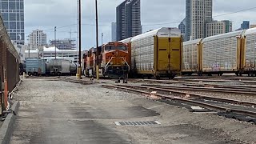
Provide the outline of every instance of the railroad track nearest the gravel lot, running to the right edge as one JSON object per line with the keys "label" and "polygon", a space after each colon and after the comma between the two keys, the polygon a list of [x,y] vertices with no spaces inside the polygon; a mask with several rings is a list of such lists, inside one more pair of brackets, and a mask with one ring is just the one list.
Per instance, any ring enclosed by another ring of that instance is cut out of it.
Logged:
{"label": "railroad track nearest the gravel lot, running to the right edge", "polygon": [[[256,118],[256,103],[254,102],[244,102],[237,101],[234,99],[227,98],[215,98],[202,94],[192,94],[185,93],[177,90],[166,90],[157,87],[148,87],[148,86],[131,86],[131,85],[106,85],[103,84],[103,87],[106,88],[115,88],[120,90],[130,90],[140,94],[151,95],[152,90],[159,92],[154,96],[162,99],[167,99],[175,102],[184,102],[194,106],[202,106],[205,108],[210,108],[214,110],[234,112],[236,114],[245,114],[250,117]],[[150,92],[151,91],[151,92]]]}

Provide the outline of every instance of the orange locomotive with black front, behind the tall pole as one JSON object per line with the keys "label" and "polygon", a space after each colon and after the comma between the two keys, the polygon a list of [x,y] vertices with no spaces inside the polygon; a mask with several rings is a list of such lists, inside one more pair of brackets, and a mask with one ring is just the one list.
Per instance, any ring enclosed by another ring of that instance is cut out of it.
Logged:
{"label": "orange locomotive with black front, behind the tall pole", "polygon": [[[128,46],[122,42],[109,42],[100,46],[99,51],[99,74],[108,78],[124,78],[130,70],[130,56]],[[86,76],[96,75],[96,52],[97,49],[91,48],[84,55],[84,70]]]}

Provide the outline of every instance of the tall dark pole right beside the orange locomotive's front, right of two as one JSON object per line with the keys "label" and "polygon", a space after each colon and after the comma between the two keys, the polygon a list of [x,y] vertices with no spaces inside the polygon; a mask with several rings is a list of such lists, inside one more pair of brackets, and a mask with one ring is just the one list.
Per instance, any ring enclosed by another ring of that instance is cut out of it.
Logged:
{"label": "tall dark pole right beside the orange locomotive's front, right of two", "polygon": [[99,60],[98,60],[98,56],[99,56],[99,50],[98,50],[98,2],[97,0],[95,0],[95,10],[96,10],[96,78],[97,80],[99,80]]}

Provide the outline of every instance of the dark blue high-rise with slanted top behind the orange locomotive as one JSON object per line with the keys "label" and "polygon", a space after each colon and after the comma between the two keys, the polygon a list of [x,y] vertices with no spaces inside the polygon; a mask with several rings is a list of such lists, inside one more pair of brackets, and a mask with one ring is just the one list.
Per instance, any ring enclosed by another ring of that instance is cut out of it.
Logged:
{"label": "dark blue high-rise with slanted top behind the orange locomotive", "polygon": [[140,0],[126,0],[116,8],[117,41],[142,34],[140,5]]}

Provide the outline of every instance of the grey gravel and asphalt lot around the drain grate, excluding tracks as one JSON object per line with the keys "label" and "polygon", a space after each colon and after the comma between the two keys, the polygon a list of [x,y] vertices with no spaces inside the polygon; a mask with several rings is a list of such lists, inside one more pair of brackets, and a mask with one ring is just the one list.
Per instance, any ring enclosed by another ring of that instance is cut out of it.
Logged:
{"label": "grey gravel and asphalt lot around the drain grate, excluding tracks", "polygon": [[[26,79],[12,144],[20,143],[256,143],[256,126],[154,102],[98,85]],[[154,121],[158,126],[116,126]]]}

